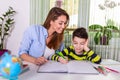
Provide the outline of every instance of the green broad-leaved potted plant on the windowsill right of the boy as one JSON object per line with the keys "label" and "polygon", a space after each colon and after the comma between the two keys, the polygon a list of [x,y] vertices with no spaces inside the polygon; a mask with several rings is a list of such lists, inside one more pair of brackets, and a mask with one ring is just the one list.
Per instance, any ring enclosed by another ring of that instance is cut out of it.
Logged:
{"label": "green broad-leaved potted plant on the windowsill right of the boy", "polygon": [[93,24],[89,26],[89,30],[96,32],[94,36],[95,44],[108,45],[109,40],[112,38],[112,31],[116,31],[118,28],[113,25],[101,26]]}

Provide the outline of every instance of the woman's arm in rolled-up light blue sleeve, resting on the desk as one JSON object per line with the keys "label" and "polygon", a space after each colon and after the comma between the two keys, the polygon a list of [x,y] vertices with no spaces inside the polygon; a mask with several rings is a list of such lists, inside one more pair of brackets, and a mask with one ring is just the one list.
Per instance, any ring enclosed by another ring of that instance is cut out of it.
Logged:
{"label": "woman's arm in rolled-up light blue sleeve, resting on the desk", "polygon": [[[37,31],[40,31],[40,33],[36,33]],[[46,32],[46,30],[37,25],[33,25],[25,30],[18,52],[23,60],[34,64],[42,64],[46,61],[44,57],[41,57],[44,52],[42,49],[45,46],[44,36],[38,39],[40,35],[43,35],[43,32]]]}

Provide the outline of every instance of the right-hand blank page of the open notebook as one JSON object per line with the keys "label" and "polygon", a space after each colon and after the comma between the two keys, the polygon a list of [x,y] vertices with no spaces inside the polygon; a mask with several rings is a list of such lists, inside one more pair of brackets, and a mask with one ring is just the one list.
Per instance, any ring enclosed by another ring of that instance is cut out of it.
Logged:
{"label": "right-hand blank page of the open notebook", "polygon": [[97,70],[87,61],[70,61],[67,64],[68,73],[81,73],[81,74],[99,74]]}

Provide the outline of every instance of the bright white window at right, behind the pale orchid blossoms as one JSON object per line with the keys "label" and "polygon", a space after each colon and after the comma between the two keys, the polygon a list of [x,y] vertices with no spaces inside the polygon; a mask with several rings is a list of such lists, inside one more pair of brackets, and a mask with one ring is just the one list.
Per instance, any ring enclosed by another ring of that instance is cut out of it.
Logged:
{"label": "bright white window at right, behind the pale orchid blossoms", "polygon": [[120,27],[120,1],[119,0],[90,0],[91,24],[114,25]]}

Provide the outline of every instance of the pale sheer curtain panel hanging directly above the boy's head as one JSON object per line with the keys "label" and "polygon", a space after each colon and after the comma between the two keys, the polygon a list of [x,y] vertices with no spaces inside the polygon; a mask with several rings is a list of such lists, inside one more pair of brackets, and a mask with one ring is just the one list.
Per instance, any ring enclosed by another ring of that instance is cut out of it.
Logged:
{"label": "pale sheer curtain panel hanging directly above the boy's head", "polygon": [[79,0],[78,7],[78,26],[88,29],[90,0]]}

